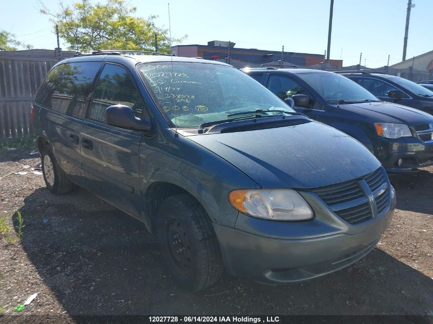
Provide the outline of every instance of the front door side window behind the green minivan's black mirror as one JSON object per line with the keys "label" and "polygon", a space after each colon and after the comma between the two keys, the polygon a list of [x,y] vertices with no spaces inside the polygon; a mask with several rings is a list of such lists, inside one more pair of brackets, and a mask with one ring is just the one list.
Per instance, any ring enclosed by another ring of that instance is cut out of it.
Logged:
{"label": "front door side window behind the green minivan's black mirror", "polygon": [[135,117],[139,118],[144,109],[134,80],[127,70],[118,65],[106,64],[96,83],[90,118],[103,122],[107,107],[114,104],[130,106]]}

